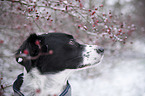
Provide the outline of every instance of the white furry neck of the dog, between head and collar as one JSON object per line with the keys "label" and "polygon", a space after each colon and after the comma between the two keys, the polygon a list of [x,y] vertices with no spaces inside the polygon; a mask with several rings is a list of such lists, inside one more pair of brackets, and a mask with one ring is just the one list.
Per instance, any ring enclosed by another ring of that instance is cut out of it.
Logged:
{"label": "white furry neck of the dog, between head and collar", "polygon": [[22,91],[24,94],[26,91],[30,96],[30,90],[33,90],[33,93],[36,96],[54,96],[59,95],[66,88],[67,80],[73,70],[64,70],[59,73],[52,74],[40,74],[38,69],[33,68],[29,73],[24,72],[24,82],[22,85]]}

